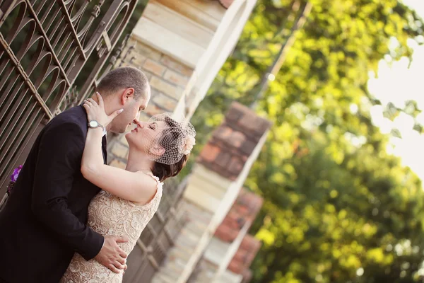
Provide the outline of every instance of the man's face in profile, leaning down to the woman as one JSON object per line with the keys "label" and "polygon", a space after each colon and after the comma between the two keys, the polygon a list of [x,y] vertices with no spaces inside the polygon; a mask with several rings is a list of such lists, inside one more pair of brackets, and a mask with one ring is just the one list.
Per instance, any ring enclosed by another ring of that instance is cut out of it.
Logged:
{"label": "man's face in profile, leaning down to the woman", "polygon": [[150,90],[145,96],[139,99],[134,97],[125,100],[122,108],[124,112],[117,115],[111,123],[110,131],[114,133],[126,132],[128,126],[130,126],[134,120],[139,120],[140,111],[146,109],[148,101],[150,100]]}

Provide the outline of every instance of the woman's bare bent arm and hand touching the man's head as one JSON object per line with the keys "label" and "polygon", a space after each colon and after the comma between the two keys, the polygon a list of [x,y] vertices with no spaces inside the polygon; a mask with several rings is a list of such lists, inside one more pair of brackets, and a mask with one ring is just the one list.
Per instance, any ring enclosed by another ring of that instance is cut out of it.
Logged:
{"label": "woman's bare bent arm and hand touching the man's head", "polygon": [[[97,120],[100,123],[104,122],[105,125],[109,120],[112,120],[110,116],[116,117],[119,114],[115,112],[107,116],[101,97],[99,98],[99,105],[94,100],[90,100],[90,106],[84,104],[84,108],[87,110],[88,121]],[[156,180],[145,173],[134,173],[105,165],[102,156],[102,136],[101,127],[88,129],[81,161],[81,173],[83,173],[84,178],[117,197],[139,204],[149,202],[156,192]]]}

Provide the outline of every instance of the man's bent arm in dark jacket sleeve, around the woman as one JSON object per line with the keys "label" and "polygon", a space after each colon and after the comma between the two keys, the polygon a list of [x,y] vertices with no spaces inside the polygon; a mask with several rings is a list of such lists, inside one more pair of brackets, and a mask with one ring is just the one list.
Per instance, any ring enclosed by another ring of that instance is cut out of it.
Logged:
{"label": "man's bent arm in dark jacket sleeve, around the woman", "polygon": [[90,260],[100,252],[104,238],[81,223],[66,202],[73,175],[81,168],[84,142],[83,132],[71,122],[43,134],[35,168],[32,209],[37,219],[57,233],[61,241]]}

